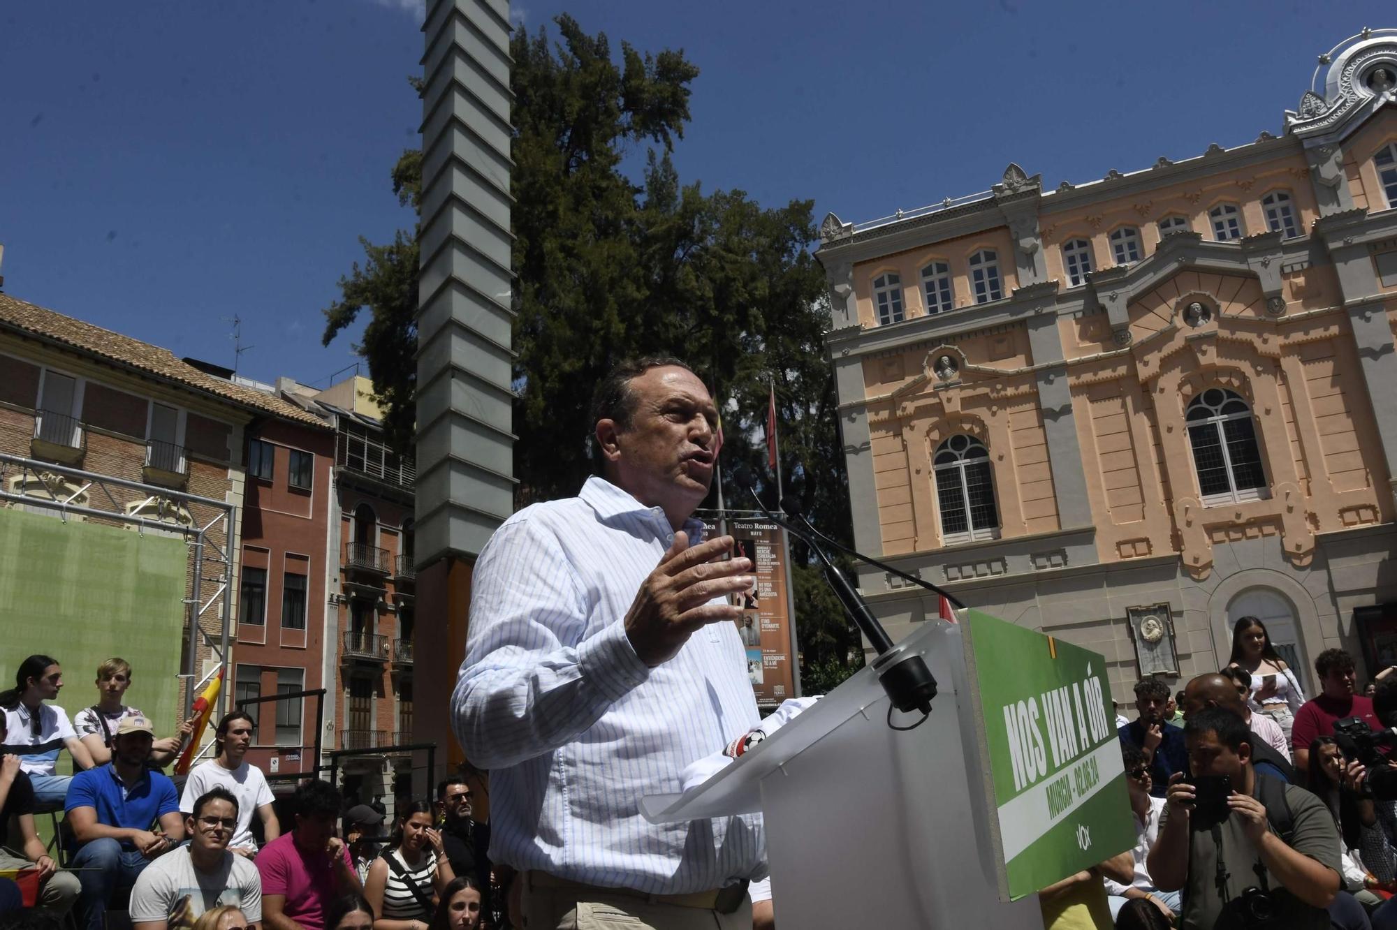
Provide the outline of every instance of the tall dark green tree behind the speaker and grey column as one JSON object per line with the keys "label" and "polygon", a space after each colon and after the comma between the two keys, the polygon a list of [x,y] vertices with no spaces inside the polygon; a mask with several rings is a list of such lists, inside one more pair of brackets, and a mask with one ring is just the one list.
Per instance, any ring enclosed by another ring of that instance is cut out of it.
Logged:
{"label": "tall dark green tree behind the speaker and grey column", "polygon": [[[689,360],[724,408],[729,508],[750,507],[733,465],[766,471],[766,412],[774,388],[787,497],[847,542],[848,503],[833,370],[824,357],[824,275],[810,254],[812,201],[764,208],[740,190],[682,183],[671,159],[689,123],[698,68],[682,52],[619,61],[602,34],[567,15],[517,32],[511,184],[514,461],[522,499],[577,493],[591,472],[588,401],[617,360],[672,353]],[[636,177],[633,177],[636,176]],[[420,154],[394,169],[402,202],[420,197]],[[363,307],[358,346],[387,406],[394,437],[411,434],[415,388],[416,242],[365,242],[367,260],[326,310],[328,342]],[[760,482],[775,503],[771,476]],[[717,494],[708,505],[715,505]],[[858,634],[809,553],[792,577],[806,665],[845,669]],[[833,665],[831,665],[833,663]],[[821,679],[835,679],[821,673]],[[835,681],[837,683],[837,681]]]}

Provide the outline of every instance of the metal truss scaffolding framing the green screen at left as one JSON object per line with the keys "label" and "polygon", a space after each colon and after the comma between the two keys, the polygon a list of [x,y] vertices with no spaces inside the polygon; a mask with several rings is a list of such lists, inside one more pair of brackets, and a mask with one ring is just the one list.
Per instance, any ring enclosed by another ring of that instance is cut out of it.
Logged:
{"label": "metal truss scaffolding framing the green screen at left", "polygon": [[[20,487],[21,492],[10,490],[11,485]],[[27,487],[42,489],[49,496],[22,493],[22,489]],[[82,503],[78,503],[80,500]],[[186,645],[189,655],[182,676],[189,683],[186,704],[193,701],[194,694],[221,670],[224,687],[218,695],[218,714],[215,716],[224,714],[232,688],[228,676],[228,656],[229,623],[233,607],[233,528],[237,525],[237,508],[233,504],[172,487],[98,475],[8,452],[0,452],[0,501],[8,501],[11,505],[54,510],[64,521],[71,514],[134,525],[140,532],[151,529],[182,535],[193,553],[193,570],[189,573],[189,592],[184,598],[184,617],[189,624]],[[151,519],[142,515],[151,508],[162,515],[172,514],[175,519]],[[214,511],[212,517],[200,524],[200,519],[208,514],[196,517],[196,508]],[[218,542],[219,531],[222,532],[222,545]],[[205,585],[214,588],[207,600],[204,599]],[[204,631],[200,620],[219,602],[222,603],[222,623],[221,634],[215,640]],[[196,680],[201,635],[218,665]]]}

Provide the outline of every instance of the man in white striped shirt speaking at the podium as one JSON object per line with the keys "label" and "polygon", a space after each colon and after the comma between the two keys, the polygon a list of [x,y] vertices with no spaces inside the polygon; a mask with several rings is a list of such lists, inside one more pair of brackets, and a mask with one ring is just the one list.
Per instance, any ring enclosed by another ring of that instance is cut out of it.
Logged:
{"label": "man in white striped shirt speaking at the podium", "polygon": [[490,769],[490,859],[524,883],[528,930],[752,926],[760,815],[654,825],[644,795],[757,726],[729,595],[732,539],[693,519],[718,411],[682,362],[617,366],[592,402],[577,497],[507,519],[475,566],[453,726]]}

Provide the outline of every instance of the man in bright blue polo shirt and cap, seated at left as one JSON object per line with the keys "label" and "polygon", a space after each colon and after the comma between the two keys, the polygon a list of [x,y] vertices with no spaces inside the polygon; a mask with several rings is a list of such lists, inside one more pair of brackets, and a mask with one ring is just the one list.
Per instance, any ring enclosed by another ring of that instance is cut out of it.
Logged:
{"label": "man in bright blue polo shirt and cap, seated at left", "polygon": [[[112,739],[112,761],[80,772],[68,785],[68,824],[82,843],[73,857],[82,885],[80,930],[103,930],[116,890],[134,885],[152,859],[184,839],[175,782],[145,768],[154,740],[149,721],[124,718]],[[152,832],[156,822],[163,835]]]}

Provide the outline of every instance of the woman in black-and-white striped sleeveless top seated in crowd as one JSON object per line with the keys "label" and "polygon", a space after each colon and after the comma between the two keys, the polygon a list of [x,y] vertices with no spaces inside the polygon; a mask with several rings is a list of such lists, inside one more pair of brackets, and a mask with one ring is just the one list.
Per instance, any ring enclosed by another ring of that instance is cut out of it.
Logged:
{"label": "woman in black-and-white striped sleeveless top seated in crowd", "polygon": [[369,866],[363,896],[377,915],[374,930],[426,930],[437,896],[455,878],[432,817],[429,803],[408,804],[388,849]]}

